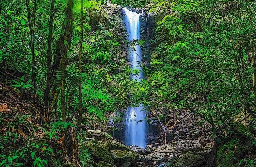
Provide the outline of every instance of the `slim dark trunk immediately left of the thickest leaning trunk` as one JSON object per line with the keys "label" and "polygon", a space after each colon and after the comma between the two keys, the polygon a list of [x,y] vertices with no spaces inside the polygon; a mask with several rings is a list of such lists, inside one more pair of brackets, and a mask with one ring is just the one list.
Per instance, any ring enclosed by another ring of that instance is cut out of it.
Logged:
{"label": "slim dark trunk immediately left of the thickest leaning trunk", "polygon": [[46,64],[47,64],[47,76],[46,76],[46,88],[44,91],[44,106],[45,106],[45,118],[49,119],[50,112],[49,112],[49,101],[48,101],[48,95],[50,92],[50,86],[51,86],[51,60],[52,60],[52,24],[54,19],[54,4],[55,0],[52,0],[51,2],[51,14],[50,14],[50,20],[49,20],[49,33],[48,33],[48,44],[47,44],[47,55],[46,55]]}

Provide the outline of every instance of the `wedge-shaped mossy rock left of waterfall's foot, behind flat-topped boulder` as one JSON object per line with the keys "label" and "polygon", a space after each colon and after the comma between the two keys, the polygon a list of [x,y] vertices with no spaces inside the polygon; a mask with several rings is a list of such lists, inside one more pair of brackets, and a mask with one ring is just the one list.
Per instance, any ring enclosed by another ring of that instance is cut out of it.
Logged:
{"label": "wedge-shaped mossy rock left of waterfall's foot, behind flat-topped boulder", "polygon": [[116,139],[114,138],[109,138],[107,139],[106,141],[104,141],[103,145],[102,145],[103,148],[105,148],[106,150],[128,150],[128,151],[131,151],[131,149],[124,145],[123,143],[117,141]]}

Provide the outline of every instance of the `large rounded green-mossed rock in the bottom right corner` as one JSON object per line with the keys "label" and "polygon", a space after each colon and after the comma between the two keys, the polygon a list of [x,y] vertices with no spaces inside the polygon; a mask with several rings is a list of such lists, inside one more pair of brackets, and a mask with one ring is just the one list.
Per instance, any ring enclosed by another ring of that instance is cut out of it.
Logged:
{"label": "large rounded green-mossed rock in the bottom right corner", "polygon": [[231,167],[247,154],[247,148],[234,141],[228,141],[217,151],[217,167]]}

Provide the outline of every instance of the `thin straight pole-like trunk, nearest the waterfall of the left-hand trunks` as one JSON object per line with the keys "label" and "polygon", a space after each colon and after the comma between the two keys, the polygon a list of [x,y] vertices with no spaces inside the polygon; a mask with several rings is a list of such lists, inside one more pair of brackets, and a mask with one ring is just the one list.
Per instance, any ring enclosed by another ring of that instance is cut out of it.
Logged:
{"label": "thin straight pole-like trunk, nearest the waterfall of the left-hand trunks", "polygon": [[81,16],[80,16],[80,22],[81,22],[81,35],[80,35],[80,46],[79,46],[79,83],[78,83],[78,88],[79,88],[79,111],[78,111],[78,127],[81,127],[82,123],[82,45],[83,45],[83,0],[81,0]]}

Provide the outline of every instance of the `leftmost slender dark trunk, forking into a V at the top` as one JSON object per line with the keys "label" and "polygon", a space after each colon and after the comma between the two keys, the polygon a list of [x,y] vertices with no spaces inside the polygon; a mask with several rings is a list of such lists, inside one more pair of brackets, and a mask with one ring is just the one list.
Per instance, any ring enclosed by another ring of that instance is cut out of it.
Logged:
{"label": "leftmost slender dark trunk, forking into a V at the top", "polygon": [[36,20],[36,0],[34,0],[34,7],[32,14],[30,13],[29,8],[29,0],[26,0],[26,7],[27,7],[27,16],[28,16],[28,24],[29,24],[29,31],[30,31],[30,50],[32,56],[32,83],[34,86],[34,100],[36,97],[36,61],[35,61],[35,51],[34,51],[34,32],[35,32],[35,20]]}

